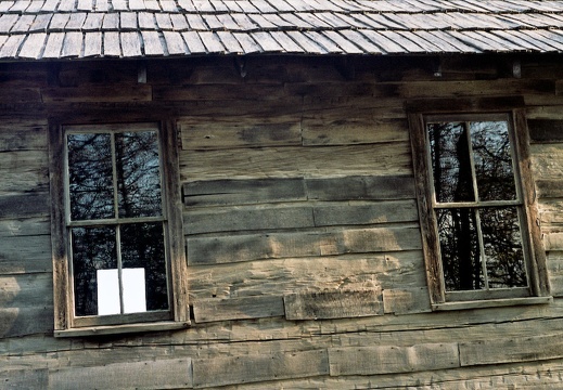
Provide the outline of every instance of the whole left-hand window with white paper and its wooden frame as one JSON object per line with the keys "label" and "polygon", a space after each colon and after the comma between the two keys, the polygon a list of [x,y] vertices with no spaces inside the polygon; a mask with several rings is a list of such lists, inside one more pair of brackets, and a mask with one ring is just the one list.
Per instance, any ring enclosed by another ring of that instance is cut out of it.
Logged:
{"label": "whole left-hand window with white paper and its wooden frame", "polygon": [[60,336],[185,326],[176,144],[165,130],[51,128]]}

